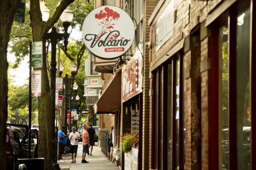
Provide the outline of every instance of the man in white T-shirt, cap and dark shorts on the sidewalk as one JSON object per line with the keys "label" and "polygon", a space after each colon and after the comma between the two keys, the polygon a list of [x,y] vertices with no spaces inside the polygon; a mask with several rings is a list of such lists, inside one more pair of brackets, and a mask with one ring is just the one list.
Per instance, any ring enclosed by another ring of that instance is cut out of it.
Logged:
{"label": "man in white T-shirt, cap and dark shorts on the sidewalk", "polygon": [[70,133],[70,153],[72,161],[71,163],[76,163],[75,158],[77,155],[77,147],[78,147],[78,141],[80,139],[80,134],[76,132],[76,128],[72,127],[72,133]]}

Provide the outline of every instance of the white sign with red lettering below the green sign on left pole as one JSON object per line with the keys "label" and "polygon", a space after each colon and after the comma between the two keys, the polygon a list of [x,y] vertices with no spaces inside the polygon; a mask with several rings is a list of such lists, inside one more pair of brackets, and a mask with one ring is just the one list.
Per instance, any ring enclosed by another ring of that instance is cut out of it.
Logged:
{"label": "white sign with red lettering below the green sign on left pole", "polygon": [[32,71],[31,96],[41,96],[41,70]]}

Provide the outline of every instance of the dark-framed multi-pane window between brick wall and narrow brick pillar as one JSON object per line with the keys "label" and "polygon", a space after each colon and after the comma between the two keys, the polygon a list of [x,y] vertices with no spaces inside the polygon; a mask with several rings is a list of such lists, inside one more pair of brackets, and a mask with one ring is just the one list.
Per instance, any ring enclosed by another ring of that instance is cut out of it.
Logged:
{"label": "dark-framed multi-pane window between brick wall and narrow brick pillar", "polygon": [[153,169],[184,170],[183,63],[184,57],[179,54],[153,72]]}

